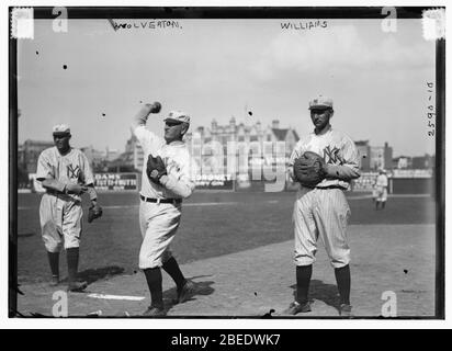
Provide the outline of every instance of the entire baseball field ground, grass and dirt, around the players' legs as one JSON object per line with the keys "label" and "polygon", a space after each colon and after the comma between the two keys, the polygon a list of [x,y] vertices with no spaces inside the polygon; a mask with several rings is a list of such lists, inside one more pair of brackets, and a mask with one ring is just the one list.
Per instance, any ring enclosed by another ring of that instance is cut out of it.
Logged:
{"label": "entire baseball field ground, grass and dirt, around the players' legs", "polygon": [[[187,278],[197,283],[194,296],[174,305],[176,288],[163,273],[169,317],[261,317],[281,312],[293,301],[292,208],[295,193],[195,193],[183,204],[181,227],[172,251]],[[351,303],[357,317],[434,315],[436,212],[429,196],[389,196],[375,211],[366,194],[348,194],[352,216]],[[18,199],[18,279],[23,316],[52,316],[56,291],[41,238],[38,194]],[[138,316],[149,304],[138,270],[142,236],[136,193],[101,193],[102,218],[83,218],[79,278],[84,293],[68,295],[68,316]],[[88,204],[84,205],[87,208]],[[86,217],[86,216],[84,216]],[[67,274],[66,257],[60,272]],[[321,242],[314,264],[309,297],[313,312],[304,317],[337,317],[334,270]],[[386,307],[385,307],[386,306]]]}

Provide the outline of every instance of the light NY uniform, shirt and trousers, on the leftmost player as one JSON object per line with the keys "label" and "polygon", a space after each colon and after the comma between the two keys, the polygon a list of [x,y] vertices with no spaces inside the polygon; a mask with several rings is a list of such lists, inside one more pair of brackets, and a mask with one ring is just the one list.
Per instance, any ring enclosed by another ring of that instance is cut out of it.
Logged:
{"label": "light NY uniform, shirt and trousers, on the leftmost player", "polygon": [[[63,183],[91,184],[94,182],[89,161],[79,149],[71,148],[61,156],[56,147],[45,149],[37,160],[36,179],[55,179]],[[47,191],[39,205],[39,220],[44,245],[49,252],[78,248],[81,235],[81,197]]]}

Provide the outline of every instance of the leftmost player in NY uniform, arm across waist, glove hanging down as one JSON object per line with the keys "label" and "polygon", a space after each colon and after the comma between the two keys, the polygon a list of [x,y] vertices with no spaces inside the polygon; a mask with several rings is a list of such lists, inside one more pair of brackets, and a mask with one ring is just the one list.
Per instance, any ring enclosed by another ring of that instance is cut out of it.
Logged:
{"label": "leftmost player in NY uniform, arm across waist, glove hanging down", "polygon": [[64,246],[68,291],[77,292],[87,287],[87,282],[77,282],[81,194],[88,192],[92,205],[97,205],[98,196],[87,157],[69,145],[69,126],[54,126],[53,136],[55,146],[42,151],[37,160],[36,179],[46,190],[39,206],[41,229],[52,270],[50,285],[59,284],[59,252]]}

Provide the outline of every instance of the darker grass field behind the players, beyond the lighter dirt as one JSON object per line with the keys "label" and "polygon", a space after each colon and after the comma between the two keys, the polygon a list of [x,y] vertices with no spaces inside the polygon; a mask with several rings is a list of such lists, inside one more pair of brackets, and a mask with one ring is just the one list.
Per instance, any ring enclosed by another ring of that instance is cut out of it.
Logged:
{"label": "darker grass field behind the players, beyond the lighter dirt", "polygon": [[[172,251],[180,263],[188,263],[291,240],[294,196],[290,192],[195,193],[183,204]],[[37,194],[19,194],[18,199],[20,283],[47,281],[49,275],[41,238],[39,200]],[[391,225],[436,222],[431,197],[389,197],[386,210],[378,212],[370,199],[350,194],[349,200],[351,225],[385,225],[387,230]],[[137,270],[142,241],[137,194],[104,193],[100,202],[103,217],[92,224],[83,219],[79,270],[88,280]],[[61,257],[61,274],[66,274],[65,257]]]}

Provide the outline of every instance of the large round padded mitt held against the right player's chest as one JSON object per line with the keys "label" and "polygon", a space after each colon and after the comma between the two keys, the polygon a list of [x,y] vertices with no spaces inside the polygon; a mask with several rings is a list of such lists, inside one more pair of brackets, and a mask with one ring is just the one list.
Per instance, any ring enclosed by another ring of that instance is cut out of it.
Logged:
{"label": "large round padded mitt held against the right player's chest", "polygon": [[294,177],[307,188],[315,188],[326,177],[325,161],[316,152],[306,151],[294,162]]}

